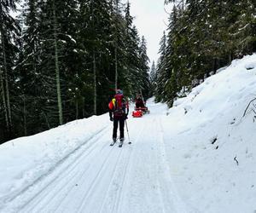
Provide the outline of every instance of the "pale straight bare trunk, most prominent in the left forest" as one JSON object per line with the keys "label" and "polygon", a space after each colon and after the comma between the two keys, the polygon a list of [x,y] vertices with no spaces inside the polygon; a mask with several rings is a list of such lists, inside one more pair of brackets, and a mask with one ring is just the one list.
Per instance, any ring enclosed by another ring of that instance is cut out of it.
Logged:
{"label": "pale straight bare trunk, most prominent in the left forest", "polygon": [[57,20],[55,14],[55,0],[53,0],[53,19],[54,19],[54,43],[55,43],[55,73],[56,73],[56,88],[58,97],[58,109],[59,109],[59,123],[63,124],[62,105],[61,105],[61,82],[60,82],[60,69],[59,69],[59,56],[58,56],[58,44],[57,44]]}

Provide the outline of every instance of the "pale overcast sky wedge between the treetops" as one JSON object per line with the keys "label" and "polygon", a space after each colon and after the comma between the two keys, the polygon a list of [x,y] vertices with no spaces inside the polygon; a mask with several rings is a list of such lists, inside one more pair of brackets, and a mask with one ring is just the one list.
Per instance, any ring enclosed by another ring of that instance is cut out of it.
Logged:
{"label": "pale overcast sky wedge between the treetops", "polygon": [[[125,1],[124,1],[125,2]],[[131,3],[131,15],[135,17],[140,36],[144,36],[148,43],[148,57],[150,66],[152,61],[157,62],[160,38],[168,25],[171,5],[165,6],[165,0],[129,0]]]}

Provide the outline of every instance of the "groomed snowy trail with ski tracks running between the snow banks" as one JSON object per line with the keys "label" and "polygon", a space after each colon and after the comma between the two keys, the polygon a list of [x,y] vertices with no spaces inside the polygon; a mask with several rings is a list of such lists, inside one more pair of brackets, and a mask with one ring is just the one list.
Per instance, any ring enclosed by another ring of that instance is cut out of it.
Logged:
{"label": "groomed snowy trail with ski tracks running between the snow banks", "polygon": [[122,148],[110,147],[109,125],[3,212],[186,212],[168,173],[163,115],[148,107],[150,114],[128,119],[131,145],[126,136]]}

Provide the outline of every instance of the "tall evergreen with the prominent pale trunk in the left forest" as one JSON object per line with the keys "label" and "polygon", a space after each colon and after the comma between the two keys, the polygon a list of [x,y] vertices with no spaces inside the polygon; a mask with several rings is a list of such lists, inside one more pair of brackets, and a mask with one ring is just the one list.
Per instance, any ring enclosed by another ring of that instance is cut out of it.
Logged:
{"label": "tall evergreen with the prominent pale trunk in the left forest", "polygon": [[[51,127],[68,120],[69,97],[67,81],[78,67],[75,26],[77,20],[77,1],[43,2],[40,20],[41,78],[44,79],[43,112],[46,124]],[[64,92],[65,91],[65,92]],[[64,107],[64,110],[62,108]],[[68,109],[68,108],[67,108]],[[66,118],[65,118],[66,117]]]}

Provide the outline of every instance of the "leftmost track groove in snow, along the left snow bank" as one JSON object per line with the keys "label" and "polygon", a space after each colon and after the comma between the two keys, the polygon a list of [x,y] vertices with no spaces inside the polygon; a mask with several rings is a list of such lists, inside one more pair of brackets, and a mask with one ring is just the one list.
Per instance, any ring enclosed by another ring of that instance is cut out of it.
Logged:
{"label": "leftmost track groove in snow, along the left snow bank", "polygon": [[[16,193],[12,198],[9,198],[8,200],[6,200],[6,203],[9,203],[15,199],[20,199],[20,201],[17,202],[18,206],[9,207],[8,205],[6,205],[6,209],[9,212],[11,212],[11,210],[15,210],[15,209],[22,210],[26,208],[27,204],[31,204],[31,202],[37,199],[37,196],[39,196],[40,193],[44,192],[44,190],[47,187],[49,187],[52,184],[52,182],[54,182],[63,171],[67,170],[70,166],[72,166],[76,162],[77,158],[74,158],[74,157],[77,157],[78,152],[79,152],[79,157],[82,156],[84,153],[84,150],[86,151],[87,149],[90,149],[91,146],[93,145],[95,146],[96,145],[95,141],[99,138],[99,136],[105,134],[108,131],[108,129],[109,129],[109,126],[104,126],[101,130],[96,132],[96,135],[92,135],[89,139],[84,141],[84,143],[82,143],[79,147],[75,148],[73,152],[68,153],[67,156],[65,156],[64,158],[61,158],[61,160],[58,161],[54,167],[49,168],[49,170],[46,173],[44,173],[44,175],[39,176],[37,180],[33,181],[30,185],[20,190],[20,192]],[[54,177],[50,177],[50,180],[48,180],[48,182],[45,184],[44,182],[45,179],[49,178],[51,174],[54,174],[56,170],[60,169],[60,167],[67,161],[68,158],[74,158],[74,159],[69,164],[67,164],[67,166],[65,166],[60,171],[58,171],[58,174],[56,174]],[[37,187],[39,188],[37,189],[38,190],[37,193],[33,193],[34,189]],[[23,199],[24,197],[25,198],[28,197],[30,199],[24,201]]]}

